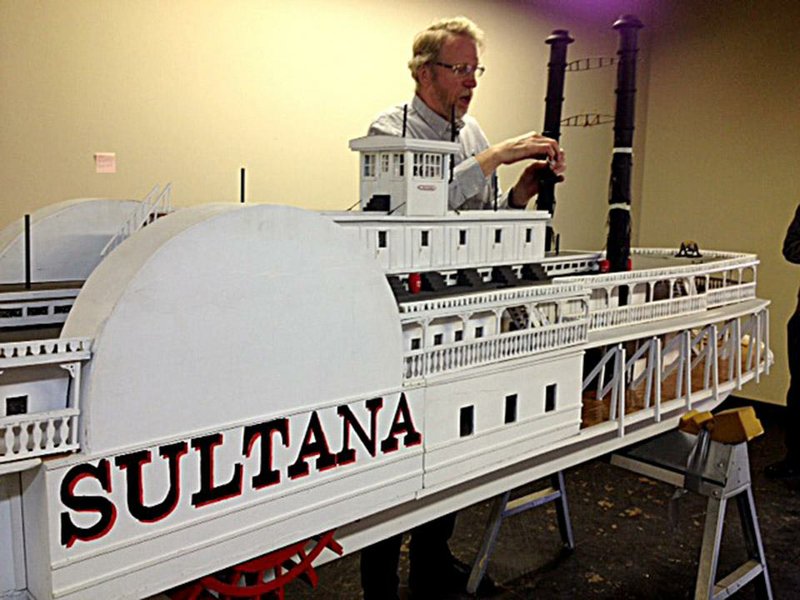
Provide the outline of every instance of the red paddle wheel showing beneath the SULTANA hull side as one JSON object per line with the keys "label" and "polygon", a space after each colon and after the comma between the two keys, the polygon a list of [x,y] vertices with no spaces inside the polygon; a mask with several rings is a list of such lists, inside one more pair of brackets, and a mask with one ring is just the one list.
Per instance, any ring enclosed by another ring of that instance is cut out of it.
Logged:
{"label": "red paddle wheel showing beneath the SULTANA hull side", "polygon": [[207,575],[168,595],[172,600],[283,600],[284,588],[298,577],[317,586],[313,562],[325,548],[339,555],[343,552],[333,531]]}

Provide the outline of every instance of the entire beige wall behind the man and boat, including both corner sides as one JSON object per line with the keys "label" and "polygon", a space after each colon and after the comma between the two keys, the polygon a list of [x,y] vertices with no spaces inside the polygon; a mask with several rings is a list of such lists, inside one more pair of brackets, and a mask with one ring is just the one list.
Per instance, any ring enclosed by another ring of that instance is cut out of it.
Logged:
{"label": "entire beige wall behind the man and boat, including both corner sides", "polygon": [[[800,279],[778,249],[800,177],[793,2],[0,0],[0,226],[170,181],[178,206],[237,202],[242,166],[248,201],[347,208],[347,140],[411,98],[405,63],[428,22],[466,14],[486,30],[473,114],[500,140],[542,126],[550,31],[576,38],[570,58],[610,56],[623,12],[647,26],[634,242],[761,255],[778,368],[747,393],[781,401],[782,325]],[[613,90],[613,69],[570,74],[564,115],[612,112]],[[604,244],[611,142],[610,126],[563,131],[563,247]],[[116,152],[116,174],[94,173],[99,151]]]}

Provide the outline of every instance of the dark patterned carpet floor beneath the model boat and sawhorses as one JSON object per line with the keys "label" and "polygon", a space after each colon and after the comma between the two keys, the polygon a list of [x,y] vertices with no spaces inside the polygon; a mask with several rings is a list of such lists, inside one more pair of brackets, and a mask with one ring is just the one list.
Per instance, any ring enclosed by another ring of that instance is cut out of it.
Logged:
{"label": "dark patterned carpet floor beneath the model boat and sawhorses", "polygon": [[[722,408],[737,403],[741,404],[729,400]],[[763,404],[755,406],[766,434],[750,442],[750,466],[772,591],[776,599],[800,598],[800,481],[771,481],[763,474],[766,465],[783,454],[784,411]],[[678,501],[676,519],[674,511],[670,517],[672,486],[614,467],[608,460],[580,465],[566,471],[565,476],[575,550],[561,550],[552,505],[511,517],[503,524],[489,563],[489,574],[501,585],[495,598],[694,597],[706,498],[684,495]],[[488,502],[476,505],[459,515],[451,548],[465,562],[471,563],[478,550],[489,506]],[[718,573],[727,574],[746,558],[739,515],[732,502],[725,520]],[[404,544],[403,581],[406,559]],[[356,553],[323,565],[316,590],[294,582],[286,590],[286,599],[360,599],[358,561]],[[402,588],[401,594],[405,591]],[[754,583],[734,597],[756,598]]]}

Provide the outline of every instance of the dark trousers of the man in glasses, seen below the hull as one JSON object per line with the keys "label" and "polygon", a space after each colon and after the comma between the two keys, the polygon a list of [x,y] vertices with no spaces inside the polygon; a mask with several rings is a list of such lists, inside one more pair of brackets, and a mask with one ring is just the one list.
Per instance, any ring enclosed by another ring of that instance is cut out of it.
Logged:
{"label": "dark trousers of the man in glasses, seen below the hull", "polygon": [[[456,524],[456,513],[445,515],[411,530],[409,544],[409,583],[413,588],[436,581],[447,569],[453,555],[447,545]],[[398,534],[361,550],[361,587],[364,600],[394,600],[398,597],[400,545]]]}

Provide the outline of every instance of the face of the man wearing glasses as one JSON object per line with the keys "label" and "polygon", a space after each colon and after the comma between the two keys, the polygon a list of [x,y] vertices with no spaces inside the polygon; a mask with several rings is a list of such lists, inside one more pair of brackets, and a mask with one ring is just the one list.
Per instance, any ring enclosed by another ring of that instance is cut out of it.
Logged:
{"label": "face of the man wearing glasses", "polygon": [[[478,65],[478,47],[467,36],[453,35],[442,46],[436,62],[449,65]],[[450,118],[450,110],[455,106],[456,117],[467,114],[472,101],[472,92],[478,85],[475,73],[459,77],[452,69],[436,64],[426,65],[427,76],[423,77],[423,100],[434,112],[445,119]]]}

